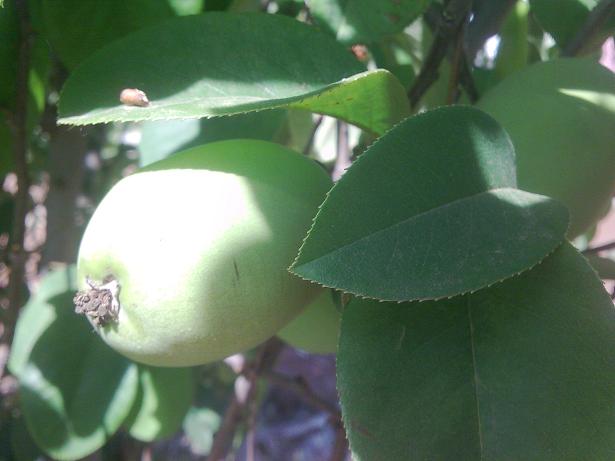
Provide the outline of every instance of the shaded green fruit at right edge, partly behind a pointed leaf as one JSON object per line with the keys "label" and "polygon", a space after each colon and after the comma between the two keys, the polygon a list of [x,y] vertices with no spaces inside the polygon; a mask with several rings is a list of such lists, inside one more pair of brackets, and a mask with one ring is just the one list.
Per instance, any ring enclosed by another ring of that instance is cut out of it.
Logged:
{"label": "shaded green fruit at right edge, partly behind a pointed leaf", "polygon": [[570,210],[569,237],[598,221],[615,191],[615,75],[588,59],[530,66],[479,101],[510,134],[519,188]]}

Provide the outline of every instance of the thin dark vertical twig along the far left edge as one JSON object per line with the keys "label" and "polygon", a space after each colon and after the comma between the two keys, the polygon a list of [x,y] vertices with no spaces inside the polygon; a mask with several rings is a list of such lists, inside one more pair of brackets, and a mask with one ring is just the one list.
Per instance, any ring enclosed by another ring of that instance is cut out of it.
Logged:
{"label": "thin dark vertical twig along the far left edge", "polygon": [[19,16],[19,56],[17,62],[17,83],[15,98],[13,156],[15,174],[17,175],[17,193],[15,195],[15,215],[13,234],[9,247],[11,249],[11,278],[8,286],[9,308],[4,322],[3,342],[11,344],[15,330],[17,314],[23,302],[22,283],[25,275],[26,254],[24,237],[26,233],[26,214],[28,212],[28,174],[27,149],[27,115],[28,115],[28,75],[30,72],[30,23],[27,0],[16,0]]}

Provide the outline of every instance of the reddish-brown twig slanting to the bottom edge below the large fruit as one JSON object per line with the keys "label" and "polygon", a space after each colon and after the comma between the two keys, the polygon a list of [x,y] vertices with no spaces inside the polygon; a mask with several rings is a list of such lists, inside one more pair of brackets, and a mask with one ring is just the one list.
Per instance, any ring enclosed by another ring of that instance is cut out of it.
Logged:
{"label": "reddish-brown twig slanting to the bottom edge below the large fruit", "polygon": [[233,395],[222,419],[220,429],[214,436],[207,461],[221,461],[227,456],[233,444],[237,426],[243,420],[246,408],[248,408],[250,402],[256,396],[256,384],[259,376],[274,365],[282,347],[284,346],[277,339],[267,341],[260,347],[254,362],[248,365],[242,374],[237,377],[237,379],[245,379],[244,376],[247,378],[247,392],[243,398],[237,395],[237,393]]}

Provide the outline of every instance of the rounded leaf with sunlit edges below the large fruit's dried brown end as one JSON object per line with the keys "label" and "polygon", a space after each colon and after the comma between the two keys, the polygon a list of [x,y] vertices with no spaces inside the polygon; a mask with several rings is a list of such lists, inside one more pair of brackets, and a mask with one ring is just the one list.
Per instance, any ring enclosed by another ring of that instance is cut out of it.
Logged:
{"label": "rounded leaf with sunlit edges below the large fruit's dried brown end", "polygon": [[84,457],[124,421],[137,367],[113,352],[72,310],[74,268],[43,281],[19,318],[10,369],[36,443],[55,459]]}

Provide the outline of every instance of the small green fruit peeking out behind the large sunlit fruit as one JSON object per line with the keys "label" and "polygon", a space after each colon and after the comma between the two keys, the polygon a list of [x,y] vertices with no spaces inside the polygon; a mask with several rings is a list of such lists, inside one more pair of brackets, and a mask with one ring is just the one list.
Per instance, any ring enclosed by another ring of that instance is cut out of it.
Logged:
{"label": "small green fruit peeking out behind the large sunlit fruit", "polygon": [[341,320],[331,290],[325,290],[297,318],[278,331],[278,336],[297,349],[314,354],[333,354],[337,351]]}

